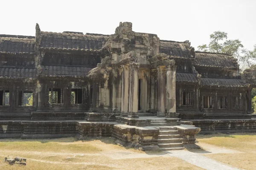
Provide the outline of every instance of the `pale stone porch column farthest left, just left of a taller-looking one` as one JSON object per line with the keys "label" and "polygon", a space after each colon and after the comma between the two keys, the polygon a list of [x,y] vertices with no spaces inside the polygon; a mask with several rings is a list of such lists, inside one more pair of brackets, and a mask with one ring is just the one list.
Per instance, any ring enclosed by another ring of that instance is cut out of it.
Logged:
{"label": "pale stone porch column farthest left, just left of a taller-looking one", "polygon": [[121,116],[128,116],[129,112],[129,85],[130,85],[130,68],[128,65],[122,65],[122,108]]}

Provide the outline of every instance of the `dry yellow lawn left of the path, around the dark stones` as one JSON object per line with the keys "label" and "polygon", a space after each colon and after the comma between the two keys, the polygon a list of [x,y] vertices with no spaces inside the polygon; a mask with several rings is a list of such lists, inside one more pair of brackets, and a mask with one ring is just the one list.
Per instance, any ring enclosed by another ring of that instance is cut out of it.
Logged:
{"label": "dry yellow lawn left of the path, around the dark stones", "polygon": [[112,138],[0,139],[0,159],[23,157],[26,166],[0,163],[0,170],[201,170],[155,150],[143,152],[114,144]]}

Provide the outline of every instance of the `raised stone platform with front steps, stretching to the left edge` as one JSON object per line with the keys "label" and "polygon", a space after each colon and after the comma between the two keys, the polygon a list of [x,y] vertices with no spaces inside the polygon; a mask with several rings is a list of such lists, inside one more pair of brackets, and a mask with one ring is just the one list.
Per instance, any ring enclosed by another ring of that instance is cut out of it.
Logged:
{"label": "raised stone platform with front steps, stretching to the left edge", "polygon": [[[152,150],[195,147],[195,134],[200,128],[191,125],[145,126],[123,125],[117,122],[87,121],[0,121],[0,138],[60,138],[112,136],[116,143]],[[185,145],[185,146],[184,146]]]}

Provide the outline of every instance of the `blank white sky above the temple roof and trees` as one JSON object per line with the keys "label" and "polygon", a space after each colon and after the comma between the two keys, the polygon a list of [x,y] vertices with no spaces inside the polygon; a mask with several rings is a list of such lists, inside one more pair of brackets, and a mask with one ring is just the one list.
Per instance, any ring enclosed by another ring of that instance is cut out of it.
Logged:
{"label": "blank white sky above the temple roof and trees", "polygon": [[1,0],[0,34],[41,31],[113,34],[119,22],[161,40],[197,49],[214,31],[225,31],[245,48],[256,44],[256,0]]}

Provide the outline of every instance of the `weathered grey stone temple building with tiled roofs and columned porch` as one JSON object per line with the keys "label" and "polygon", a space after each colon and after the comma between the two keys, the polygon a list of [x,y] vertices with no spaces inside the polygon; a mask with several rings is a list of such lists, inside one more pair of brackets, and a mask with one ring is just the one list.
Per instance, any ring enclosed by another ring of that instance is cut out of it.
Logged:
{"label": "weathered grey stone temple building with tiled roofs and columned porch", "polygon": [[[2,134],[63,136],[79,131],[72,121],[253,130],[255,75],[242,74],[232,56],[134,32],[128,22],[111,35],[45,32],[36,24],[35,37],[0,35]],[[36,121],[72,125],[50,133]]]}

